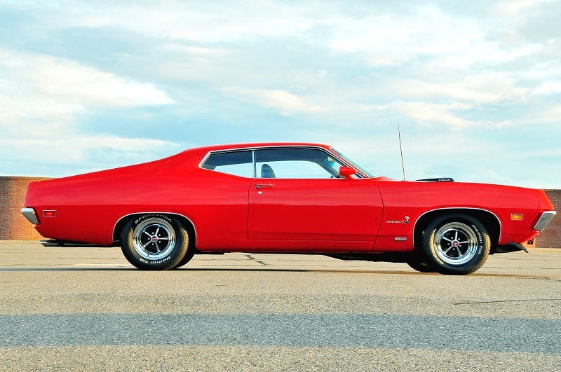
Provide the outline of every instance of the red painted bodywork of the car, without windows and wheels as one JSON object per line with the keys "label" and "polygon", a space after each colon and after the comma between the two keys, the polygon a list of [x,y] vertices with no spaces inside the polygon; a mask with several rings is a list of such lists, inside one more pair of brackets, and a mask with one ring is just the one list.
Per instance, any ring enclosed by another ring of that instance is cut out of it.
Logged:
{"label": "red painted bodywork of the car, without windows and wheels", "polygon": [[[440,209],[487,211],[499,220],[499,244],[526,242],[537,234],[532,227],[541,212],[553,209],[542,191],[529,188],[385,177],[251,179],[198,167],[209,151],[275,145],[208,146],[32,182],[25,207],[36,210],[36,229],[45,237],[107,245],[114,243],[117,222],[130,214],[180,214],[194,224],[202,252],[406,252],[419,218]],[[299,145],[330,149],[282,144]],[[43,210],[56,216],[43,217]],[[524,219],[511,221],[513,213]]]}

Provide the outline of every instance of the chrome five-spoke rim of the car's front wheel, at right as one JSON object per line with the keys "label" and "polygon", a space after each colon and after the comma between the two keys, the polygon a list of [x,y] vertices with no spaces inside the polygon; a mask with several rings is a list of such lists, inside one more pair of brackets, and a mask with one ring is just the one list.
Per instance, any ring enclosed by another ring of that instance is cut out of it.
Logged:
{"label": "chrome five-spoke rim of the car's front wheel, at right", "polygon": [[436,255],[449,265],[463,265],[478,252],[478,237],[465,223],[451,222],[434,235]]}

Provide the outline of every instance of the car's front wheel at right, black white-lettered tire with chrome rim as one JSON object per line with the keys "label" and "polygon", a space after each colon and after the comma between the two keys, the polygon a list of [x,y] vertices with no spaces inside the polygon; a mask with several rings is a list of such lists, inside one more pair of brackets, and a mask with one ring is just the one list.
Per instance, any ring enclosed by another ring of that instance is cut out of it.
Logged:
{"label": "car's front wheel at right, black white-lettered tire with chrome rim", "polygon": [[472,216],[446,214],[424,231],[422,251],[439,273],[466,275],[487,261],[491,239],[485,226]]}

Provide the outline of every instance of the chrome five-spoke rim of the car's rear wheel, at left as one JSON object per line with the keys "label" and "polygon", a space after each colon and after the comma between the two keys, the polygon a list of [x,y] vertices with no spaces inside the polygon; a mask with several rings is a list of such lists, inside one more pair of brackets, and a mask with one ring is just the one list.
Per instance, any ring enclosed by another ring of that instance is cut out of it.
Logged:
{"label": "chrome five-spoke rim of the car's rear wheel, at left", "polygon": [[175,230],[163,219],[146,219],[133,230],[133,247],[144,259],[163,259],[175,247]]}

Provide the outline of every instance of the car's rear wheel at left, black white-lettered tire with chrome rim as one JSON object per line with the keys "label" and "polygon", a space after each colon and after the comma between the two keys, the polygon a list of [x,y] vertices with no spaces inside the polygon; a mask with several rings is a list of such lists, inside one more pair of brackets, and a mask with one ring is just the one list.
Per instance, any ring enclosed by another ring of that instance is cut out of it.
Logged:
{"label": "car's rear wheel at left, black white-lettered tire with chrome rim", "polygon": [[159,213],[136,216],[121,233],[121,250],[141,270],[168,270],[189,251],[189,234],[177,219]]}

